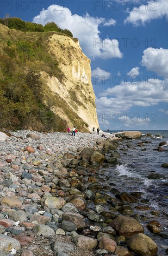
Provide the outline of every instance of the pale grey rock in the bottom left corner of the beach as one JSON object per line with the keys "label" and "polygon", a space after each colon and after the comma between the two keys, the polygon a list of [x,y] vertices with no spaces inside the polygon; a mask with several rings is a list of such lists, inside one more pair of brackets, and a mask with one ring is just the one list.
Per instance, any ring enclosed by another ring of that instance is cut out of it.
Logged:
{"label": "pale grey rock in the bottom left corner of the beach", "polygon": [[16,249],[16,251],[19,250],[19,241],[10,236],[0,235],[0,251],[8,254],[11,251],[11,249]]}

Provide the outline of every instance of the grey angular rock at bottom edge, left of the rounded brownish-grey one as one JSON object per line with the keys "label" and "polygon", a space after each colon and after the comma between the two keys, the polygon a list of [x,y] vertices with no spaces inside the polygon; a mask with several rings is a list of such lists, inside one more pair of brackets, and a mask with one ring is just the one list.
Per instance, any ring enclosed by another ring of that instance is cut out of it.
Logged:
{"label": "grey angular rock at bottom edge, left of the rounded brownish-grey one", "polygon": [[71,252],[74,251],[74,246],[70,243],[63,243],[59,241],[54,241],[51,244],[51,249],[53,250],[55,255],[58,255],[58,253],[62,252]]}

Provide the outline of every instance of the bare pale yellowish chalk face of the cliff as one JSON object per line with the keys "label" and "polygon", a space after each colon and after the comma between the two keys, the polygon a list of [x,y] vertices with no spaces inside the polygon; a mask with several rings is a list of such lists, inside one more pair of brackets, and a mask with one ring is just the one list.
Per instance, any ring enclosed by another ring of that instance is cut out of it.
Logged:
{"label": "bare pale yellowish chalk face of the cliff", "polygon": [[[50,54],[58,61],[63,74],[60,81],[55,76],[42,73],[45,91],[57,99],[52,105],[52,110],[65,120],[70,128],[74,126],[74,119],[79,119],[80,124],[81,121],[84,122],[81,131],[98,128],[90,60],[82,52],[78,40],[62,34],[53,34],[49,47]],[[57,101],[62,101],[62,107]]]}

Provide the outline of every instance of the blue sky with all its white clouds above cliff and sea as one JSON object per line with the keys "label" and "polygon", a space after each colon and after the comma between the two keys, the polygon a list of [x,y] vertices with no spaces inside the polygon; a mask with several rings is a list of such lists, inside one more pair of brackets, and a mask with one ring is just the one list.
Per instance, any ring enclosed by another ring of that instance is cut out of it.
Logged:
{"label": "blue sky with all its white clouds above cliff and sea", "polygon": [[168,129],[168,0],[1,0],[0,11],[79,39],[102,130]]}

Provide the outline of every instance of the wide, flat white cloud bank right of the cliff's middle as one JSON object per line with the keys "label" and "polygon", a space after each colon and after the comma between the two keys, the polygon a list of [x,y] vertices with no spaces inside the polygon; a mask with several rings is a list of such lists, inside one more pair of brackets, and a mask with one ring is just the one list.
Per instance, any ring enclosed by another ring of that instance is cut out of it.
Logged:
{"label": "wide, flat white cloud bank right of the cliff's middle", "polygon": [[[137,85],[124,81],[113,88],[107,88],[97,99],[98,109],[127,111],[132,106],[153,106],[168,101],[167,80],[149,79]],[[107,98],[109,97],[109,98]],[[99,107],[100,106],[100,107]]]}

